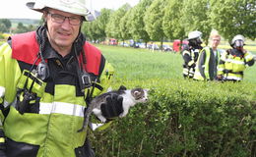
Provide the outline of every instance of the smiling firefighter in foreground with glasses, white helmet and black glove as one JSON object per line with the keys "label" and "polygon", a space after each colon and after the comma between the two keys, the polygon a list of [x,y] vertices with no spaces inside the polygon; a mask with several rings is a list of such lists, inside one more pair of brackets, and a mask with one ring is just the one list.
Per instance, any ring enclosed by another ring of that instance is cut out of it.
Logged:
{"label": "smiling firefighter in foreground with glasses, white helmet and black glove", "polygon": [[[44,24],[0,47],[0,156],[94,156],[87,131],[79,130],[87,105],[105,91],[113,69],[81,33],[90,16],[85,2],[27,6],[43,14]],[[123,112],[122,97],[109,96],[101,112],[109,120],[105,128]]]}

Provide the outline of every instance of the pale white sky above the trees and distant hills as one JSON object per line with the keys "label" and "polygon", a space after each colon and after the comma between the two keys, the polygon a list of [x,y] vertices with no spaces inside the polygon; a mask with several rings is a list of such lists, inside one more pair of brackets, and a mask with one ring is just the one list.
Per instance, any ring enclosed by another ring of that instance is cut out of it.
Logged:
{"label": "pale white sky above the trees and distant hills", "polygon": [[[26,6],[30,0],[1,0],[0,19],[40,19],[41,14]],[[34,1],[34,0],[31,0]],[[125,3],[132,7],[140,0],[86,0],[88,9],[100,11],[102,8],[116,10]]]}

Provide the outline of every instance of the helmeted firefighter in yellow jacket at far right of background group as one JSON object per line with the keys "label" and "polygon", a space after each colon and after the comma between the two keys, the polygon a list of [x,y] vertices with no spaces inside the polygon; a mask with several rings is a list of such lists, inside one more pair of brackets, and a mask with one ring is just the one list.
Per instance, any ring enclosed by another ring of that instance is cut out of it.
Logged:
{"label": "helmeted firefighter in yellow jacket at far right of background group", "polygon": [[218,66],[218,78],[222,80],[240,81],[247,66],[253,66],[253,55],[246,51],[243,35],[235,35],[230,43],[231,49],[226,50]]}

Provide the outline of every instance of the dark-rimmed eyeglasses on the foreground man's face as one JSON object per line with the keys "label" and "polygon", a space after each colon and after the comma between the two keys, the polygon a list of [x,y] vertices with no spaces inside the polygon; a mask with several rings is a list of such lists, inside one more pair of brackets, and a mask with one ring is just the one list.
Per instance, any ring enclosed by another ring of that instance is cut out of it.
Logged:
{"label": "dark-rimmed eyeglasses on the foreground man's face", "polygon": [[58,24],[63,24],[66,19],[68,19],[69,24],[72,26],[79,26],[82,22],[80,17],[65,17],[59,14],[51,14],[49,12],[48,15],[50,15],[52,22]]}

